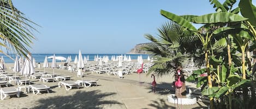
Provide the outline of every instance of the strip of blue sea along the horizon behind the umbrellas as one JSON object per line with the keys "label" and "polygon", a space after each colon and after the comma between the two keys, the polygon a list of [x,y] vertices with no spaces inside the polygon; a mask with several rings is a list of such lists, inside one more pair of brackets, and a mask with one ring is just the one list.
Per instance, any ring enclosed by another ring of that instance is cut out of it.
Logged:
{"label": "strip of blue sea along the horizon behind the umbrellas", "polygon": [[[15,54],[9,54],[13,59],[15,59]],[[78,54],[55,54],[55,56],[63,56],[63,57],[68,57],[68,56],[71,56],[72,58],[72,62],[75,60],[75,56],[78,56]],[[89,61],[94,61],[94,56],[97,56],[98,57],[103,57],[103,56],[109,56],[109,60],[111,60],[111,56],[112,55],[115,55],[116,56],[120,56],[120,55],[123,55],[124,54],[82,54],[82,57],[84,59],[84,56],[89,56]],[[129,56],[130,55],[130,58],[132,60],[136,60],[138,58],[138,56],[142,56],[142,59],[147,59],[147,54],[126,54],[126,56]],[[5,63],[14,63],[13,60],[11,60],[9,57],[5,56],[4,54],[0,54],[0,56],[3,56],[4,57],[4,62]],[[35,62],[40,62],[40,63],[43,63],[44,62],[44,59],[45,59],[45,56],[53,56],[53,54],[32,54],[32,56],[34,57],[35,59]],[[47,59],[48,62],[51,62],[52,59]],[[56,62],[61,62],[60,60],[56,60]]]}

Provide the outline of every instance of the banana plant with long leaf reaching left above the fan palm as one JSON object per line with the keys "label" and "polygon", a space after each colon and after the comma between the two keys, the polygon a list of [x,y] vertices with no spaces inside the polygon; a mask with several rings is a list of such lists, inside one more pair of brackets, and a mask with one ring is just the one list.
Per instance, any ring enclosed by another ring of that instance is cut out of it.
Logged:
{"label": "banana plant with long leaf reaching left above the fan palm", "polygon": [[[194,35],[197,35],[203,44],[203,49],[205,52],[205,61],[206,61],[206,71],[207,71],[207,82],[209,88],[212,87],[212,80],[211,80],[211,72],[210,72],[210,63],[209,63],[209,46],[210,41],[212,37],[214,36],[213,33],[206,33],[205,36],[201,35],[200,31],[195,29],[193,25],[183,18],[184,16],[177,16],[175,14],[172,14],[171,12],[161,10],[161,14],[168,18],[171,21],[174,21],[178,24],[180,24],[182,27],[187,28],[188,30],[192,31]],[[193,16],[192,16],[193,17]],[[216,12],[212,14],[197,16],[192,18],[193,23],[201,23],[201,24],[214,24],[214,23],[232,23],[232,22],[241,22],[246,21],[248,18],[242,17],[237,14],[233,14],[230,12]],[[211,102],[213,102],[213,99],[210,98]],[[213,103],[211,103],[212,105]],[[212,106],[211,106],[212,108]]]}

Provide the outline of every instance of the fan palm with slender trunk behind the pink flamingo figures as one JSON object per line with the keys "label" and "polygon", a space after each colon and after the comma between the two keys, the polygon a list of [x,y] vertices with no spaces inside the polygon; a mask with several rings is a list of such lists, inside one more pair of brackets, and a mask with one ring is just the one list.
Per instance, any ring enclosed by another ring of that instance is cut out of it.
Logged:
{"label": "fan palm with slender trunk behind the pink flamingo figures", "polygon": [[[189,57],[195,55],[198,48],[201,48],[199,39],[196,36],[186,35],[186,31],[175,22],[166,22],[158,29],[158,33],[158,39],[149,34],[145,35],[152,43],[142,47],[156,59],[148,70],[148,75],[153,73],[159,78],[175,74],[176,69],[186,65]],[[183,72],[181,75],[184,75]],[[184,92],[186,91],[184,76],[182,79],[182,92]]]}

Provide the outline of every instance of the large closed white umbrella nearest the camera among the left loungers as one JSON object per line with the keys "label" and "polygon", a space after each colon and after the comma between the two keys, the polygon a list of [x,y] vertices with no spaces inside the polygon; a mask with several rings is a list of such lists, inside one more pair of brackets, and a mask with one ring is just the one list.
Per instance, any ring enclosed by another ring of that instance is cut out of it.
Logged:
{"label": "large closed white umbrella nearest the camera among the left loungers", "polygon": [[[31,75],[35,73],[34,66],[32,65],[32,55],[31,53],[27,54],[27,58],[25,59],[25,62],[23,64],[23,67],[21,69],[21,72],[23,75],[25,75],[25,87],[27,85],[27,75]],[[26,88],[25,88],[26,91]]]}

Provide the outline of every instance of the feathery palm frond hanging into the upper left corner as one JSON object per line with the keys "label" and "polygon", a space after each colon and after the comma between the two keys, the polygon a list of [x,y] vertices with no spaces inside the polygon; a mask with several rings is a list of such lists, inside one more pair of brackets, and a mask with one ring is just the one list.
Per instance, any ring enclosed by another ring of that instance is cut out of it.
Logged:
{"label": "feathery palm frond hanging into the upper left corner", "polygon": [[0,53],[8,56],[7,53],[11,52],[26,56],[29,53],[27,48],[31,47],[35,39],[32,32],[37,31],[33,26],[37,24],[16,9],[11,0],[1,0],[0,8],[0,46],[6,49],[0,49]]}

